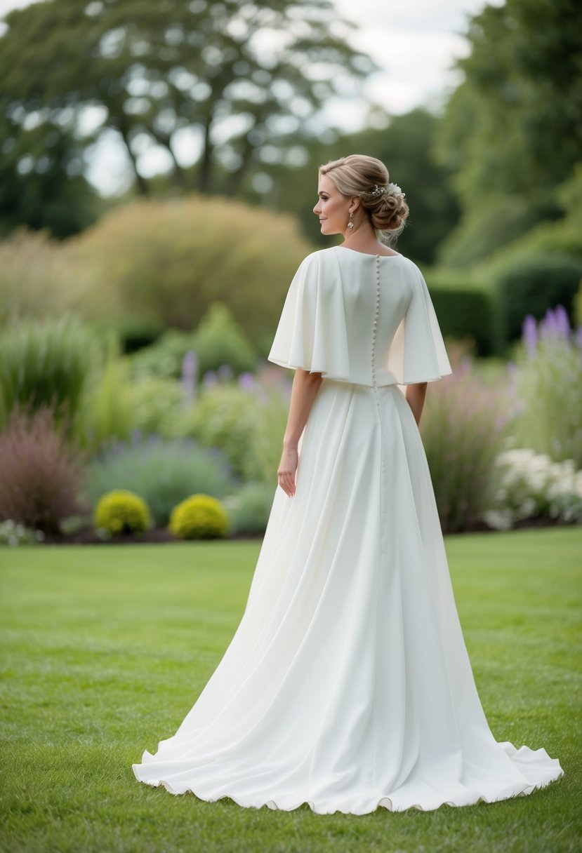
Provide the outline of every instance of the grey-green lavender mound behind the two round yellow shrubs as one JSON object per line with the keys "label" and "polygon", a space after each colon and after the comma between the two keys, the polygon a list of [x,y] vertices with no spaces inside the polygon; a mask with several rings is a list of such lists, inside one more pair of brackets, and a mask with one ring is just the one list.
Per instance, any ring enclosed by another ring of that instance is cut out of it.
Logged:
{"label": "grey-green lavender mound behind the two round yellow shrubs", "polygon": [[136,439],[115,444],[88,465],[85,491],[91,506],[112,489],[143,496],[155,524],[165,526],[172,508],[193,492],[222,497],[233,490],[224,456],[188,439]]}

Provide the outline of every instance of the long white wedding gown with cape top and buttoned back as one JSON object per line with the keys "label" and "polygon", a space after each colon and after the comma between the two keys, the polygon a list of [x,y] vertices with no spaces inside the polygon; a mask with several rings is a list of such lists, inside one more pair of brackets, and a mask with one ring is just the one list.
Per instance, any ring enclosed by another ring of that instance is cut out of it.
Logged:
{"label": "long white wedding gown with cape top and buttoned back", "polygon": [[451,589],[428,463],[399,386],[451,373],[402,255],[313,252],[271,362],[321,372],[296,491],[276,487],[236,634],[137,780],[245,807],[364,815],[528,794],[562,775],[496,742]]}

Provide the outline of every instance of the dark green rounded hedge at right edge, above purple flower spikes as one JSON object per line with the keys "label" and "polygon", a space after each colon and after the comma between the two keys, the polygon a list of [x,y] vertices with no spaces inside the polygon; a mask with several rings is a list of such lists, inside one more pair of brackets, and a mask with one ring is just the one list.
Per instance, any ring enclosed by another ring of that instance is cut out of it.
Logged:
{"label": "dark green rounded hedge at right edge, above purple flower spikes", "polygon": [[519,338],[527,314],[540,320],[545,310],[563,305],[573,316],[573,298],[582,280],[582,258],[533,254],[497,271],[498,326],[506,341]]}

